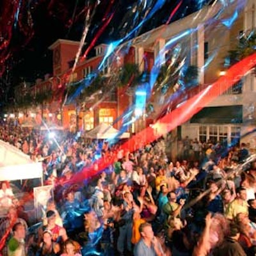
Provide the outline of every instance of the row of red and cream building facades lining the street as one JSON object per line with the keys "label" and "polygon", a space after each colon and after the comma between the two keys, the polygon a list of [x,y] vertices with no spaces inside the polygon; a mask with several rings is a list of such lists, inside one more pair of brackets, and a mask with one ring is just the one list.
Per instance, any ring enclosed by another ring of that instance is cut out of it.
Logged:
{"label": "row of red and cream building facades lining the street", "polygon": [[[243,33],[255,28],[255,4],[255,0],[250,0],[242,10],[237,10],[234,1],[225,12],[221,13],[221,17],[218,16],[223,8],[220,3],[206,6],[199,12],[172,22],[168,26],[160,26],[133,38],[129,44],[126,44],[129,47],[126,47],[125,51],[114,54],[111,60],[104,63],[100,70],[106,77],[106,84],[103,86],[108,86],[108,77],[113,77],[113,73],[127,63],[136,64],[140,73],[150,73],[154,65],[164,63],[166,54],[177,47],[182,49],[182,56],[186,56],[186,63],[194,65],[199,70],[199,86],[196,90],[189,91],[191,95],[196,94],[198,90],[206,88],[225,74],[226,67],[223,63],[228,51],[239,44],[239,38]],[[234,17],[234,14],[237,16]],[[232,17],[236,18],[235,21],[232,21]],[[74,72],[67,76],[78,47],[79,42],[69,40],[57,40],[49,47],[53,52],[53,76],[45,77],[44,81],[37,81],[29,88],[34,98],[36,93],[51,92],[52,95],[51,100],[43,100],[40,106],[26,109],[27,116],[31,114],[36,116],[36,122],[39,123],[40,118],[44,118],[72,131],[77,128],[86,131],[102,122],[112,124],[134,103],[134,93],[129,93],[127,86],[120,87],[114,84],[109,90],[111,93],[107,93],[106,97],[100,95],[99,90],[98,94],[74,97],[74,100],[63,104],[67,84],[76,84],[95,72],[108,49],[108,45],[98,45],[95,47],[95,56],[86,60],[80,59]],[[253,72],[241,77],[239,83],[234,84],[228,91],[223,91],[207,106],[202,106],[204,109],[200,113],[193,116],[186,124],[182,124],[179,127],[179,137],[189,136],[191,139],[211,140],[213,143],[244,141],[255,148],[255,136],[250,134],[255,128],[255,86]],[[18,87],[16,94],[20,94],[20,90],[21,88]],[[164,104],[168,102],[168,97],[170,97],[168,93],[156,92],[156,95],[150,99],[155,114],[141,115],[132,122],[131,131],[141,131],[155,122],[159,117],[156,113],[161,113],[168,106]],[[116,128],[119,129],[121,125],[120,121],[115,122]],[[244,136],[244,134],[249,135]]]}

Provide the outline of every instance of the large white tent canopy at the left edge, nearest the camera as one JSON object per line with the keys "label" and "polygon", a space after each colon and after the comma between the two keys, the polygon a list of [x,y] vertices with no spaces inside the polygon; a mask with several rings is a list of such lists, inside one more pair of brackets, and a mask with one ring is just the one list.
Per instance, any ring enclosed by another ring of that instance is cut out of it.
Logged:
{"label": "large white tent canopy at the left edge, nearest the camera", "polygon": [[42,175],[42,163],[33,162],[18,148],[0,140],[0,181],[36,178],[42,180]]}

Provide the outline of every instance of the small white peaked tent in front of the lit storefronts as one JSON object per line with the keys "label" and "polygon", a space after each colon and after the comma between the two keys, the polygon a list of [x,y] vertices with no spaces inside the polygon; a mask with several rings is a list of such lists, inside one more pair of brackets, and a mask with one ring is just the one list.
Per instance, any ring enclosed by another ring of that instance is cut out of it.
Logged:
{"label": "small white peaked tent in front of the lit storefronts", "polygon": [[[91,131],[87,132],[86,137],[91,139],[111,139],[115,138],[118,134],[119,131],[113,126],[102,123]],[[124,132],[118,136],[120,139],[126,139],[129,137],[129,132]]]}

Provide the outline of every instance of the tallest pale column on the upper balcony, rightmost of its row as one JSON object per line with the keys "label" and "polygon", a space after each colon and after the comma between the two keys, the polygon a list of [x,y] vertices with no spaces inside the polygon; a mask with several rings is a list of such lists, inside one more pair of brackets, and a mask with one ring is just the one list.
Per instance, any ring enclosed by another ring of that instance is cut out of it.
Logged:
{"label": "tallest pale column on the upper balcony, rightmost of its row", "polygon": [[[204,84],[204,25],[200,24],[197,29],[197,67],[199,70],[199,83]],[[208,46],[210,48],[210,44]],[[196,51],[196,50],[195,50]],[[208,49],[210,51],[210,49]]]}

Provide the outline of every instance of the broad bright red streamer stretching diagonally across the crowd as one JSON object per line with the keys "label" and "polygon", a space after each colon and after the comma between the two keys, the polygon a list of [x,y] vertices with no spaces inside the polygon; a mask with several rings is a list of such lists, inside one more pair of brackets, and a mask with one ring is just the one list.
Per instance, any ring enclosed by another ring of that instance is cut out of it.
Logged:
{"label": "broad bright red streamer stretching diagonally across the crowd", "polygon": [[[227,70],[225,76],[220,77],[216,82],[196,94],[191,99],[187,100],[182,106],[172,111],[172,113],[165,115],[163,118],[158,120],[153,127],[147,127],[138,134],[132,136],[132,138],[122,145],[124,150],[133,152],[138,150],[141,145],[138,141],[144,139],[143,143],[151,143],[157,140],[167,132],[172,131],[178,125],[188,121],[193,115],[198,113],[202,108],[207,106],[209,102],[220,96],[225,90],[228,90],[232,84],[237,83],[256,65],[256,53],[244,58]],[[157,131],[156,131],[157,130]],[[70,180],[71,183],[81,182],[84,179],[88,179],[100,173],[104,168],[113,164],[115,157],[106,163],[104,159],[100,158],[97,162],[89,168],[84,168],[80,173],[74,175],[74,178]],[[95,166],[97,165],[97,168]]]}

